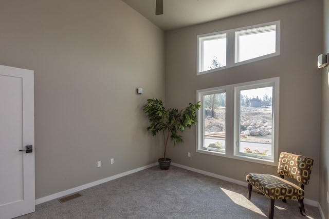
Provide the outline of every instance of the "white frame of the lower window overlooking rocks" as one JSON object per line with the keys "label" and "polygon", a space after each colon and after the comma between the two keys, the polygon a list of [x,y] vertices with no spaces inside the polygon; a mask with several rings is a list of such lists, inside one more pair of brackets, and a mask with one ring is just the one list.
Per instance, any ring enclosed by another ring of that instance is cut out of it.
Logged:
{"label": "white frame of the lower window overlooking rocks", "polygon": [[[257,155],[248,155],[239,153],[237,140],[240,139],[240,89],[260,88],[273,86],[272,93],[272,160],[265,160]],[[209,151],[204,148],[204,106],[198,110],[198,124],[196,127],[196,152],[209,155],[224,156],[237,160],[243,160],[253,163],[277,166],[279,152],[279,87],[280,78],[273,77],[261,79],[258,81],[245,82],[240,84],[226,85],[215,88],[208,88],[196,91],[197,101],[203,102],[203,95],[226,92],[226,137],[225,151]]]}

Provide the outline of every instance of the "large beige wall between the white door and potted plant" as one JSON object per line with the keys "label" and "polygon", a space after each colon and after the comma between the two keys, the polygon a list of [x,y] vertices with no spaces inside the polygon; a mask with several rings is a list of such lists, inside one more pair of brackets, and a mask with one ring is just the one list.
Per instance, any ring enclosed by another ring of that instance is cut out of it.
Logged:
{"label": "large beige wall between the white door and potted plant", "polygon": [[162,30],[120,0],[2,1],[0,27],[0,64],[34,70],[36,198],[157,161]]}

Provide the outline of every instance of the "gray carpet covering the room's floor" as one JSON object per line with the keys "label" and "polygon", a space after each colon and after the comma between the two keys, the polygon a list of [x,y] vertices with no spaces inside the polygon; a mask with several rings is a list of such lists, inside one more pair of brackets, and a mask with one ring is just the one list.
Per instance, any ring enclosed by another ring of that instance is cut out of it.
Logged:
{"label": "gray carpet covering the room's floor", "polygon": [[[36,205],[19,218],[267,218],[268,199],[247,187],[175,166],[158,166],[80,191],[83,195],[60,203]],[[275,218],[321,218],[318,208],[276,201]]]}

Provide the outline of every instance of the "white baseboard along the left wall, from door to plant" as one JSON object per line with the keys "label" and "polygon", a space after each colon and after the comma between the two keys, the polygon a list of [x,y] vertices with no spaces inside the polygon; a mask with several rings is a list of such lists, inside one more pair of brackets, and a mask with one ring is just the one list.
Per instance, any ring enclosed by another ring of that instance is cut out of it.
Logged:
{"label": "white baseboard along the left wall, from door to plant", "polygon": [[117,175],[113,175],[113,176],[109,176],[107,178],[103,178],[102,180],[98,180],[98,181],[88,183],[88,184],[85,184],[85,185],[81,185],[81,186],[78,186],[78,187],[75,187],[75,188],[67,189],[65,191],[58,192],[58,193],[55,193],[55,194],[52,194],[52,195],[41,197],[41,198],[38,198],[38,199],[35,200],[35,205],[39,205],[41,203],[48,202],[48,201],[54,200],[56,198],[63,197],[65,195],[69,195],[69,194],[72,194],[72,193],[75,193],[75,192],[78,192],[78,191],[81,191],[81,190],[84,190],[84,189],[87,189],[87,188],[90,188],[90,187],[93,187],[93,186],[97,186],[99,184],[106,183],[108,181],[116,180],[117,178],[120,178],[122,176],[126,176],[126,175],[129,175],[129,174],[144,170],[144,169],[148,169],[148,168],[154,167],[156,165],[158,165],[158,163],[143,166],[143,167],[140,167],[140,168],[137,168],[137,169],[134,169],[134,170],[126,171],[126,172],[123,172],[123,173],[120,173],[120,174],[117,174]]}

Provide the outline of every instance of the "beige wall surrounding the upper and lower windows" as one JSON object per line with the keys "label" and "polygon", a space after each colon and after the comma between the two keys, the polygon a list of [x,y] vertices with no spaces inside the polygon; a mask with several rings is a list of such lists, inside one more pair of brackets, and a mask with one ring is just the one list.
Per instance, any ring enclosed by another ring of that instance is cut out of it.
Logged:
{"label": "beige wall surrounding the upper and lower windows", "polygon": [[[196,35],[281,21],[281,55],[196,76]],[[173,30],[166,33],[166,101],[168,107],[196,101],[196,90],[280,76],[279,151],[314,158],[306,198],[319,198],[321,71],[317,55],[322,41],[322,1],[307,0]],[[197,153],[195,127],[185,143],[169,146],[173,162],[245,181],[249,172],[277,174],[275,166]],[[191,157],[188,157],[191,152]]]}

